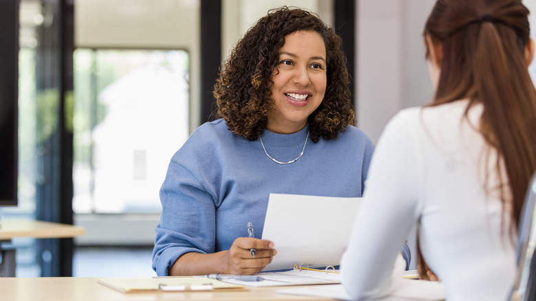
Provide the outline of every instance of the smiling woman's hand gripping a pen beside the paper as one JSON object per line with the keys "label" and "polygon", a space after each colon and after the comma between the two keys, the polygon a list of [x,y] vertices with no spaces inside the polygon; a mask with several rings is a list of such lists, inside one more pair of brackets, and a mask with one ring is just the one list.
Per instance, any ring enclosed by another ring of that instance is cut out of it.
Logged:
{"label": "smiling woman's hand gripping a pen beside the paper", "polygon": [[[255,249],[252,256],[250,249]],[[236,238],[227,252],[227,271],[225,274],[252,275],[262,271],[273,256],[277,254],[271,241],[239,237]]]}

